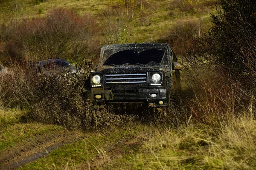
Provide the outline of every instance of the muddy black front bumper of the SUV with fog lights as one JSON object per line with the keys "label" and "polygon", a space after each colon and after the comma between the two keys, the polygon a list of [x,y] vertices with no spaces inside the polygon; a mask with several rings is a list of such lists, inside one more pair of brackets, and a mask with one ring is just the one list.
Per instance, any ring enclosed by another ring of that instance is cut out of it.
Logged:
{"label": "muddy black front bumper of the SUV with fog lights", "polygon": [[[152,94],[155,94],[152,97]],[[166,107],[169,105],[167,90],[163,88],[139,88],[134,94],[129,91],[115,93],[113,89],[92,88],[87,91],[87,99],[94,108],[103,108],[112,103],[143,102],[150,107]],[[100,98],[99,98],[100,97]]]}

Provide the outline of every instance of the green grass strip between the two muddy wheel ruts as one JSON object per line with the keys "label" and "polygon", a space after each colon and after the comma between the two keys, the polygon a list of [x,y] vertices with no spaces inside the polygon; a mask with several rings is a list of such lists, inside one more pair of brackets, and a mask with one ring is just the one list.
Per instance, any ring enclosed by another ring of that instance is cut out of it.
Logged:
{"label": "green grass strip between the two muddy wheel ruts", "polygon": [[96,155],[107,155],[104,147],[115,146],[117,141],[127,140],[131,136],[146,136],[149,129],[148,126],[130,124],[119,129],[103,130],[100,133],[85,133],[85,139],[64,145],[37,161],[23,165],[20,169],[65,169],[72,168],[72,165],[76,167],[90,162]]}

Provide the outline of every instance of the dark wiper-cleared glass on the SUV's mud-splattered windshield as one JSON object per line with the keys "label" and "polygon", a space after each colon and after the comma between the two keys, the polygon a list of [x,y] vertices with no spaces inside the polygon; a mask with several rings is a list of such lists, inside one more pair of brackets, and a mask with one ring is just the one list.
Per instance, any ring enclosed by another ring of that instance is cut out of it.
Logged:
{"label": "dark wiper-cleared glass on the SUV's mud-splattered windshield", "polygon": [[112,54],[103,65],[160,65],[165,51],[150,49],[138,53],[134,50],[124,50]]}

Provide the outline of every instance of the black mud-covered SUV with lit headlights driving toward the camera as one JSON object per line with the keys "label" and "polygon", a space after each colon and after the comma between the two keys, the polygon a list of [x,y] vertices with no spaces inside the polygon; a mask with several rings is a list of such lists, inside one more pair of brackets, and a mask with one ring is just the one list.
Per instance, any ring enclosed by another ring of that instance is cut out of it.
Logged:
{"label": "black mud-covered SUV with lit headlights driving toward the camera", "polygon": [[169,106],[180,89],[181,68],[168,44],[105,45],[90,73],[87,100],[94,108],[122,102]]}

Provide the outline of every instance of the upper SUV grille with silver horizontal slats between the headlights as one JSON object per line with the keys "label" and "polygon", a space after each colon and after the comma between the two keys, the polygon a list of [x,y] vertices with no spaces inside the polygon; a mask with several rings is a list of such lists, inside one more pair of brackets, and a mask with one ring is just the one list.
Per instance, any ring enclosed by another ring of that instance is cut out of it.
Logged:
{"label": "upper SUV grille with silver horizontal slats between the headlights", "polygon": [[147,74],[106,74],[106,84],[135,84],[146,83]]}

